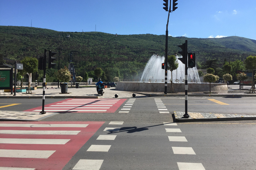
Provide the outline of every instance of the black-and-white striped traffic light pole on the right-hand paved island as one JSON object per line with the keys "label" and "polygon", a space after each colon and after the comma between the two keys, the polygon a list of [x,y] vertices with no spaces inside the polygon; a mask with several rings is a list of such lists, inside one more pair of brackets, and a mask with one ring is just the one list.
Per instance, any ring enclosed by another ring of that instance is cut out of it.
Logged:
{"label": "black-and-white striped traffic light pole on the right-hand paved island", "polygon": [[188,41],[185,40],[185,43],[182,45],[178,45],[182,49],[179,51],[182,55],[182,58],[178,58],[183,64],[185,64],[185,114],[183,115],[184,118],[189,118],[188,115]]}

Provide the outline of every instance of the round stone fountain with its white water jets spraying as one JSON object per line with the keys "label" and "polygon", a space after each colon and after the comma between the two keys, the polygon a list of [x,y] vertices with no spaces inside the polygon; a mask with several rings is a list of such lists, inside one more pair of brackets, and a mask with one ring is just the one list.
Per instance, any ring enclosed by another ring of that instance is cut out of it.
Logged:
{"label": "round stone fountain with its white water jets spraying", "polygon": [[[117,82],[116,90],[164,92],[165,70],[161,67],[161,63],[164,63],[164,59],[164,56],[152,55],[143,71],[140,82]],[[172,72],[173,88],[176,92],[184,92],[185,64],[180,60],[178,60],[178,62],[178,68]],[[167,83],[167,92],[170,92],[171,71],[167,72]],[[197,68],[188,68],[188,91],[209,90],[208,83],[201,83]],[[211,90],[228,90],[228,88],[226,84],[211,83]]]}

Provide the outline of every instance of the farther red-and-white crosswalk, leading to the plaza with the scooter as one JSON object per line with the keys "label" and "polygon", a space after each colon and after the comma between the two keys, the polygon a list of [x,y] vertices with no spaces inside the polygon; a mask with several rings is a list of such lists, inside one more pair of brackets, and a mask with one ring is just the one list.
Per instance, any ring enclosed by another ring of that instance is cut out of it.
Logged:
{"label": "farther red-and-white crosswalk, leading to the plaza with the scooter", "polygon": [[[45,105],[46,112],[76,112],[76,113],[114,113],[126,99],[66,99],[60,102]],[[27,112],[40,112],[37,107]]]}

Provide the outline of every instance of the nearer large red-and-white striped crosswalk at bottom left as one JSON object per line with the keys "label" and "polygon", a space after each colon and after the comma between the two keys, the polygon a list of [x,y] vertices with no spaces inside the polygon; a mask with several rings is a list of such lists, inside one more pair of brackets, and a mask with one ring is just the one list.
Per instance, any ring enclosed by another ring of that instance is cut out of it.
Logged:
{"label": "nearer large red-and-white striped crosswalk at bottom left", "polygon": [[61,170],[103,124],[0,122],[0,169]]}

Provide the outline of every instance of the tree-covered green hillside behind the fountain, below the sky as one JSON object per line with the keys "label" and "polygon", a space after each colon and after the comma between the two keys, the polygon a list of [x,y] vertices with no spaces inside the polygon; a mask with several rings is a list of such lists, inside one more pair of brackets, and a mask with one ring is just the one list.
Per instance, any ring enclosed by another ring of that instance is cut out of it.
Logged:
{"label": "tree-covered green hillside behind the fountain, below the sky", "polygon": [[[185,40],[188,40],[188,51],[196,53],[198,63],[218,59],[221,66],[225,58],[243,61],[249,55],[256,55],[255,40],[235,36],[218,39],[168,37],[168,54],[180,51],[177,45]],[[25,56],[43,56],[44,49],[57,51],[57,47],[63,48],[60,54],[61,68],[68,65],[69,53],[73,52],[72,61],[77,75],[83,76],[85,71],[90,72],[97,67],[103,70],[110,67],[119,69],[123,78],[130,77],[133,70],[140,74],[151,52],[164,55],[165,35],[116,36],[102,32],[58,32],[33,27],[0,26],[0,54],[7,64],[14,64],[15,59],[19,62]]]}

